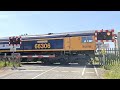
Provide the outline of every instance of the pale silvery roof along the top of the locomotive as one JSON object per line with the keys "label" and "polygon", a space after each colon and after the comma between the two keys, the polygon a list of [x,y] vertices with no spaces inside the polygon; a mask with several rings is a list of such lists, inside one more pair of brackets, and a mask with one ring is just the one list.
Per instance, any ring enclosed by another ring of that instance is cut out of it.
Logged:
{"label": "pale silvery roof along the top of the locomotive", "polygon": [[[48,34],[40,34],[40,35],[25,35],[21,36],[22,40],[28,39],[43,39],[43,38],[62,38],[62,37],[74,37],[74,36],[92,36],[94,35],[95,30],[91,31],[78,31],[78,32],[64,32],[64,33],[48,33]],[[12,36],[10,36],[12,37]],[[2,37],[0,41],[9,40],[9,37]]]}

